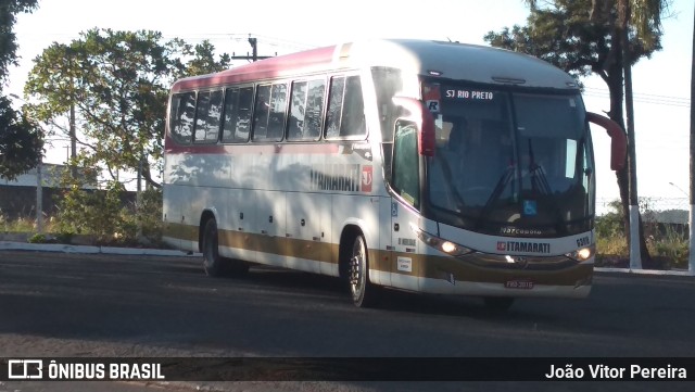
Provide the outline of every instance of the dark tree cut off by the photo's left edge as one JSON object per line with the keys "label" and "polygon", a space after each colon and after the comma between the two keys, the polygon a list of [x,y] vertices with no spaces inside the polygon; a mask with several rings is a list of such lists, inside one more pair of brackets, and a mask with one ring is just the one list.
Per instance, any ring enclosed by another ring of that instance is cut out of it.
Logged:
{"label": "dark tree cut off by the photo's left edge", "polygon": [[14,179],[40,162],[40,131],[2,96],[8,69],[16,65],[17,43],[12,31],[16,15],[31,12],[38,0],[0,0],[0,178]]}

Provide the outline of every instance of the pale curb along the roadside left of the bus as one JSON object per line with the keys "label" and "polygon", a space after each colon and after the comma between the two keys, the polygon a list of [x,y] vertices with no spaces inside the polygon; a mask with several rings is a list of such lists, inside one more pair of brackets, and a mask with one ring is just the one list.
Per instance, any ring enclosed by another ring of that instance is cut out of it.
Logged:
{"label": "pale curb along the roadside left of the bus", "polygon": [[140,249],[140,248],[118,248],[118,246],[91,246],[91,245],[67,245],[62,243],[24,243],[13,241],[0,241],[0,251],[37,251],[58,253],[80,253],[80,254],[121,254],[135,256],[172,256],[172,257],[197,257],[200,253],[188,254],[177,250],[166,249]]}

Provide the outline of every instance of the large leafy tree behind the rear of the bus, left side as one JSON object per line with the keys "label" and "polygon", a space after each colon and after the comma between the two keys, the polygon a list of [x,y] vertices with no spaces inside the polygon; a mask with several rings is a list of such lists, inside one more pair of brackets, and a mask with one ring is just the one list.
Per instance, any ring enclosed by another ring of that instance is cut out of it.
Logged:
{"label": "large leafy tree behind the rear of the bus, left side", "polygon": [[138,172],[160,187],[153,172],[162,162],[168,87],[191,72],[228,66],[228,55],[216,62],[213,53],[210,42],[163,41],[159,31],[91,29],[37,56],[25,93],[54,132],[70,132],[64,122],[75,109],[83,147],[75,163],[103,165],[113,179],[118,170]]}

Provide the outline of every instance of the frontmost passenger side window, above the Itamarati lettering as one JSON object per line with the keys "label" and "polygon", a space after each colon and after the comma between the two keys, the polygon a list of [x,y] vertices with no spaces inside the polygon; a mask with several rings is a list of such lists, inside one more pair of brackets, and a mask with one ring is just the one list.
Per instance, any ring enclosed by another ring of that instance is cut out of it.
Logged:
{"label": "frontmost passenger side window, above the Itamarati lettering", "polygon": [[356,138],[367,134],[359,76],[332,77],[326,118],[326,138]]}

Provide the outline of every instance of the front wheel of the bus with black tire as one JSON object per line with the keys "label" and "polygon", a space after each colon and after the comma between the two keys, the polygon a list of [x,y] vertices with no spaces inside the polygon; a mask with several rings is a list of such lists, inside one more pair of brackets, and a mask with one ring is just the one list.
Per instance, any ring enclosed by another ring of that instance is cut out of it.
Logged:
{"label": "front wheel of the bus with black tire", "polygon": [[369,281],[369,260],[364,236],[355,237],[348,260],[348,281],[352,301],[357,307],[372,307],[379,299],[379,287]]}

